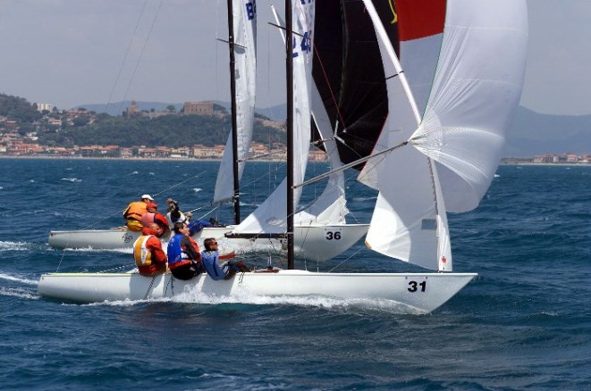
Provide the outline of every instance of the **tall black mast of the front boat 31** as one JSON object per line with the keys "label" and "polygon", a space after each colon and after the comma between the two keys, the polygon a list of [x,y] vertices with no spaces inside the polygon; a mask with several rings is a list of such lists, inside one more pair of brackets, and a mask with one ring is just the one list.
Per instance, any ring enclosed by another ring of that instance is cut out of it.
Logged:
{"label": "tall black mast of the front boat 31", "polygon": [[293,20],[291,0],[285,0],[285,79],[287,83],[287,269],[293,261]]}

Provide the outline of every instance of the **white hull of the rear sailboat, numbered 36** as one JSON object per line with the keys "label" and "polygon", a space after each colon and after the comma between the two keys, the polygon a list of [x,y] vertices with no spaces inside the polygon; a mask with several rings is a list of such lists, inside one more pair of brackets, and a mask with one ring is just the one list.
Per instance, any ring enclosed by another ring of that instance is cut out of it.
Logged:
{"label": "white hull of the rear sailboat, numbered 36", "polygon": [[[367,224],[296,227],[295,254],[298,257],[314,262],[331,259],[357,243],[367,233],[367,229]],[[280,239],[229,239],[224,237],[227,232],[232,232],[232,226],[224,228],[207,227],[200,230],[194,237],[199,245],[206,237],[215,237],[224,245],[224,248],[232,247],[237,252],[253,252],[267,249],[280,252],[284,250]],[[55,248],[131,249],[133,242],[139,235],[139,232],[127,229],[51,231],[48,244]]]}

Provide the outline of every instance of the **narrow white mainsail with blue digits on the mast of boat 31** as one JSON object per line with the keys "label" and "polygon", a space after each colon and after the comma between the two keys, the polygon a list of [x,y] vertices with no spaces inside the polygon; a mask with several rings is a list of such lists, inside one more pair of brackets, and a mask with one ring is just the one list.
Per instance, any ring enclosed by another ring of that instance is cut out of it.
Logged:
{"label": "narrow white mainsail with blue digits on the mast of boat 31", "polygon": [[[292,2],[293,15],[293,184],[303,182],[308,164],[310,142],[310,87],[312,80],[312,34],[314,3]],[[293,191],[293,203],[300,201],[301,187]],[[285,216],[286,180],[234,229],[237,233],[282,233],[287,229]]]}

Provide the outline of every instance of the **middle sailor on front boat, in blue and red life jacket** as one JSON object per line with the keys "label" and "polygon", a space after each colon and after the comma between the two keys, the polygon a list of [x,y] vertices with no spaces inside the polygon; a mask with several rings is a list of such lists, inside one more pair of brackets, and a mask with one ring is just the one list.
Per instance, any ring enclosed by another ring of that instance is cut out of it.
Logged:
{"label": "middle sailor on front boat, in blue and red life jacket", "polygon": [[204,271],[199,246],[184,222],[174,223],[174,236],[168,242],[168,268],[177,279],[192,279]]}

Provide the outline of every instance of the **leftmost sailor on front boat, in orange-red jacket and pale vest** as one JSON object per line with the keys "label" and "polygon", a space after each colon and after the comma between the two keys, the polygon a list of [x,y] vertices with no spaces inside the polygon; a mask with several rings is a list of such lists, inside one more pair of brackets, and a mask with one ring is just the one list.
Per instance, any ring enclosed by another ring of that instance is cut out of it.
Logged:
{"label": "leftmost sailor on front boat, in orange-red jacket and pale vest", "polygon": [[156,223],[149,224],[141,230],[141,236],[133,244],[133,258],[139,274],[144,276],[156,276],[166,271],[166,254],[156,237],[158,229]]}

